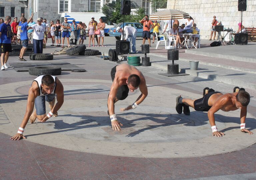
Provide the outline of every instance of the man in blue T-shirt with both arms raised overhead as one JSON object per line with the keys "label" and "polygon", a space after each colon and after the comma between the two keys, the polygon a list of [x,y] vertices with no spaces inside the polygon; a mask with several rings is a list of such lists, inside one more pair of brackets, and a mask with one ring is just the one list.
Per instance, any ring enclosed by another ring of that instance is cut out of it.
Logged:
{"label": "man in blue T-shirt with both arms raised overhead", "polygon": [[29,18],[29,20],[27,22],[27,19],[24,18],[24,14],[22,14],[21,18],[20,18],[20,23],[18,25],[18,28],[20,29],[20,40],[21,40],[21,43],[22,43],[22,48],[20,50],[20,57],[19,57],[20,61],[26,61],[23,58],[23,55],[25,54],[25,52],[28,48],[28,30],[27,30],[27,27],[28,27],[28,23],[32,20],[33,15],[34,14],[32,13],[31,17]]}

